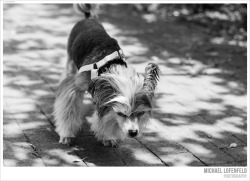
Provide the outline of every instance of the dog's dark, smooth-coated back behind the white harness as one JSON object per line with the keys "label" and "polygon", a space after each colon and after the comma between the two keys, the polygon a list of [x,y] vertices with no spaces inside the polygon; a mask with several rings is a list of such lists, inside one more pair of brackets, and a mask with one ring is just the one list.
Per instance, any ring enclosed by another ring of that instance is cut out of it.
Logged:
{"label": "dog's dark, smooth-coated back behind the white harness", "polygon": [[79,21],[68,39],[68,55],[76,67],[101,60],[120,49],[117,41],[111,38],[104,27],[91,16]]}

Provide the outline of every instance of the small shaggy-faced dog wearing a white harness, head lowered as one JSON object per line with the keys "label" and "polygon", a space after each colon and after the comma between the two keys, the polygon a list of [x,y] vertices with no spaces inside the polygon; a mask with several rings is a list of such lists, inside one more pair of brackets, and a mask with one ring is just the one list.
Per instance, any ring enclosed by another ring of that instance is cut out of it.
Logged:
{"label": "small shaggy-faced dog wearing a white harness, head lowered", "polygon": [[71,144],[80,130],[86,92],[96,108],[90,127],[104,146],[117,147],[117,140],[141,135],[152,112],[158,66],[149,63],[144,76],[136,73],[125,61],[117,40],[91,16],[75,24],[67,52],[53,112],[59,142]]}

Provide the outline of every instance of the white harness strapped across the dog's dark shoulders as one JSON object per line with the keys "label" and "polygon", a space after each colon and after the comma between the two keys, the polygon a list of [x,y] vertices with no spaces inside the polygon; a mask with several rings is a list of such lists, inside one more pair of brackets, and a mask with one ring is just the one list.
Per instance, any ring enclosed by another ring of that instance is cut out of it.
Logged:
{"label": "white harness strapped across the dog's dark shoulders", "polygon": [[93,79],[93,78],[97,77],[97,71],[100,67],[105,65],[107,62],[114,60],[114,59],[117,59],[117,58],[120,58],[120,59],[125,61],[125,56],[124,56],[122,50],[115,51],[115,52],[111,53],[110,55],[104,57],[99,62],[95,62],[95,63],[89,64],[89,65],[82,66],[79,69],[78,74],[81,72],[91,71],[91,79]]}

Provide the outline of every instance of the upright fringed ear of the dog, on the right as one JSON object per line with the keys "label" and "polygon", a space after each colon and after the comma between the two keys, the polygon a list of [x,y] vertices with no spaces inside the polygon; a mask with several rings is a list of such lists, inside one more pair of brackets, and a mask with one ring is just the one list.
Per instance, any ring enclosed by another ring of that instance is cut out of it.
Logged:
{"label": "upright fringed ear of the dog, on the right", "polygon": [[159,81],[160,69],[155,63],[149,63],[145,68],[143,88],[148,92],[150,97],[154,96],[154,91]]}

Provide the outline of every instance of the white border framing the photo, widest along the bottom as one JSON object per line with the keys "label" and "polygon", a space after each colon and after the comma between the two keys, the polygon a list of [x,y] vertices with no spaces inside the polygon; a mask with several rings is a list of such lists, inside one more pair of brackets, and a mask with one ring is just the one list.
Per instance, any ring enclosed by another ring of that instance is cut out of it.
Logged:
{"label": "white border framing the photo, widest along the bottom", "polygon": [[[3,37],[3,4],[4,3],[82,3],[83,1],[19,1],[19,0],[1,0],[1,37]],[[218,0],[127,0],[127,1],[84,1],[89,3],[247,3],[248,0],[218,1]],[[247,42],[249,45],[249,13],[247,14]],[[223,174],[204,173],[206,167],[4,167],[3,166],[3,40],[1,41],[1,180],[232,180],[225,179]],[[247,48],[247,61],[249,62],[249,48]],[[249,63],[247,64],[247,122],[249,123]],[[247,124],[249,132],[249,124]],[[249,143],[249,134],[247,135]],[[249,146],[247,146],[249,153]],[[249,180],[249,155],[247,155],[247,178],[233,180]],[[211,167],[210,167],[211,168]],[[228,167],[212,167],[228,168]]]}

